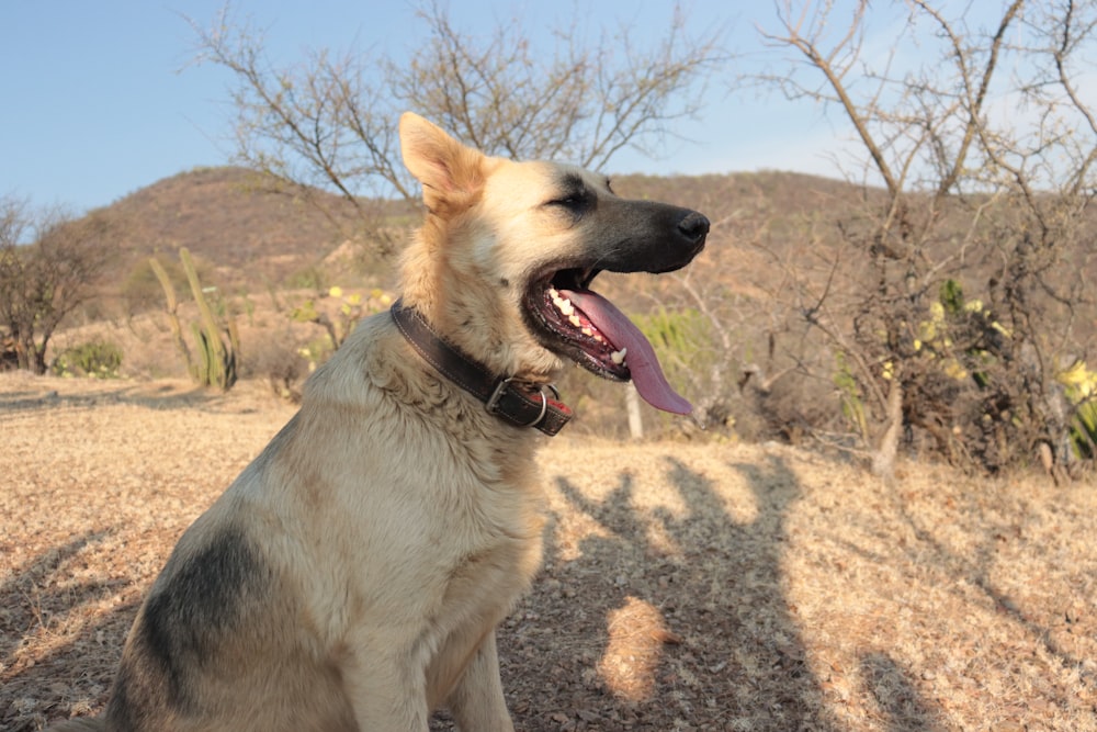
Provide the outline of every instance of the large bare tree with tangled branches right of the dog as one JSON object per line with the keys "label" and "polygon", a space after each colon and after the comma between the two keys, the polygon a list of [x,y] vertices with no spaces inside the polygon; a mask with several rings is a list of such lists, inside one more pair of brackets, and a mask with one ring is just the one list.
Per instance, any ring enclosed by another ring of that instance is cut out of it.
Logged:
{"label": "large bare tree with tangled branches right of the dog", "polygon": [[917,42],[909,68],[867,55],[867,1],[842,20],[784,0],[764,33],[789,65],[757,80],[836,110],[862,153],[862,211],[789,292],[842,357],[879,472],[915,429],[984,470],[1040,446],[1068,461],[1056,374],[1093,336],[1097,125],[1078,83],[1097,7],[1011,0],[985,29],[907,7],[890,47]]}

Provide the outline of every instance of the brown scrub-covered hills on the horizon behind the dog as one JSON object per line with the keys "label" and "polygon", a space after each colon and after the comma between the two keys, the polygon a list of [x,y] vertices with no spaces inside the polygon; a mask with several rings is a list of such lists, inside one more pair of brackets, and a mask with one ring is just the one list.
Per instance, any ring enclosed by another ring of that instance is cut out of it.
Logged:
{"label": "brown scrub-covered hills on the horizon behind the dog", "polygon": [[[732,292],[748,296],[761,296],[784,277],[773,271],[774,262],[802,259],[811,248],[841,246],[841,238],[851,235],[850,223],[879,214],[872,206],[882,202],[873,200],[881,193],[871,189],[781,171],[627,174],[614,178],[612,184],[625,198],[667,201],[708,215],[713,228],[705,266],[725,275]],[[942,212],[947,225],[925,243],[931,258],[942,259],[957,247],[971,209],[969,201]],[[377,256],[377,249],[385,247],[371,237],[378,229],[389,235],[405,232],[420,216],[403,201],[351,203],[318,189],[289,188],[238,167],[180,172],[90,215],[108,218],[116,232],[109,294],[124,289],[135,272],[147,270],[149,256],[173,259],[180,247],[189,248],[223,285],[312,283],[313,270],[324,269],[324,260],[337,249],[349,255],[353,266],[348,269],[346,260],[329,262],[332,273],[340,278],[367,273],[373,283],[387,282],[392,258]],[[985,281],[994,262],[972,261],[965,267],[971,268],[972,280]],[[626,297],[630,290],[623,289]]]}

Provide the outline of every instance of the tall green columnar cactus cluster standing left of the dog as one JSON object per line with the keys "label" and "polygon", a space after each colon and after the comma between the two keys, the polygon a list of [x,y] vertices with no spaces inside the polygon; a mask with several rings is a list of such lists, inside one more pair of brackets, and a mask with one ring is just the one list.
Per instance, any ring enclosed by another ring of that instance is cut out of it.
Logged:
{"label": "tall green columnar cactus cluster standing left of the dog", "polygon": [[183,338],[182,327],[179,323],[176,289],[160,262],[155,258],[149,259],[152,271],[160,280],[165,297],[168,301],[168,316],[176,338],[176,346],[183,356],[191,379],[204,386],[216,386],[227,392],[236,383],[237,354],[240,351],[236,318],[229,314],[224,326],[217,322],[202,290],[197,271],[194,269],[194,260],[191,259],[191,252],[185,247],[179,250],[179,259],[182,261],[186,281],[191,285],[191,293],[194,295],[194,302],[199,308],[200,322],[191,324],[191,334],[196,350],[196,356],[193,357],[186,346],[186,340]]}

